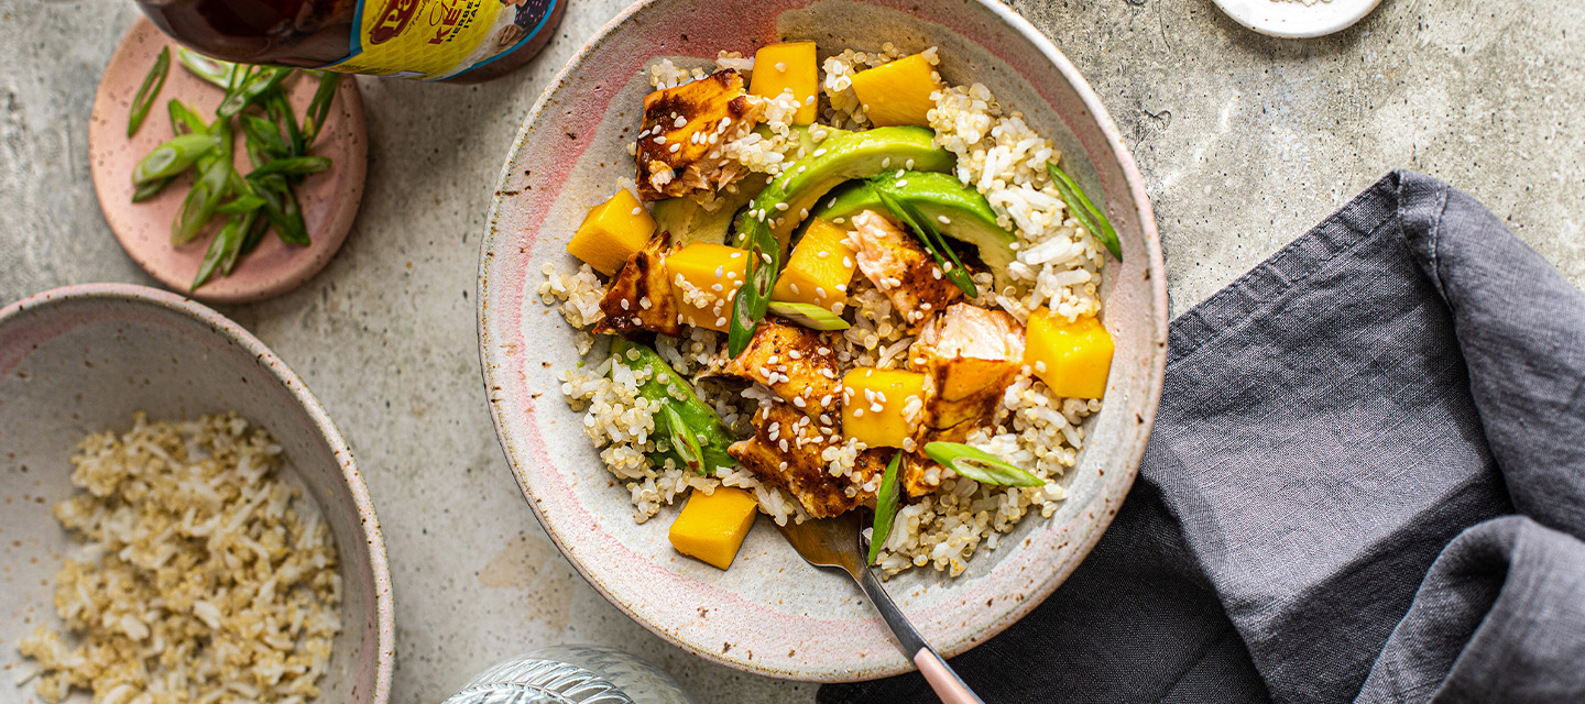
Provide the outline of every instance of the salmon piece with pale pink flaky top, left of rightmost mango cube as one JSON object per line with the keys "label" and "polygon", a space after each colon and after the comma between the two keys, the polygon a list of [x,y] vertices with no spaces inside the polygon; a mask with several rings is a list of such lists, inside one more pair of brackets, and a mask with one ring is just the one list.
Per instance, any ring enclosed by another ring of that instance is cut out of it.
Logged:
{"label": "salmon piece with pale pink flaky top, left of rightmost mango cube", "polygon": [[924,403],[926,425],[989,425],[1002,393],[1022,374],[1024,327],[1003,311],[957,303],[919,330],[908,357],[913,371],[934,382]]}

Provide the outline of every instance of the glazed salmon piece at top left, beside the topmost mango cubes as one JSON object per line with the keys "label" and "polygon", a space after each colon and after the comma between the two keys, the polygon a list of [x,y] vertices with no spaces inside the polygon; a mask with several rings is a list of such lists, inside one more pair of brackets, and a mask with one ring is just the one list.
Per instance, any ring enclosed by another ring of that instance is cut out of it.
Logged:
{"label": "glazed salmon piece at top left, beside the topmost mango cubes", "polygon": [[715,192],[742,178],[747,166],[723,157],[721,146],[753,130],[761,113],[732,70],[645,95],[639,198]]}

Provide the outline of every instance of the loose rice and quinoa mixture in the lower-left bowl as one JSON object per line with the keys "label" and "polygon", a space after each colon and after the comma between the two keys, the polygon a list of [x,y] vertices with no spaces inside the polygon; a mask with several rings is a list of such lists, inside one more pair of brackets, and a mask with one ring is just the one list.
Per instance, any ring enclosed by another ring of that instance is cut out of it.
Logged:
{"label": "loose rice and quinoa mixture in the lower-left bowl", "polygon": [[276,473],[281,446],[236,414],[87,436],[82,492],[55,506],[82,541],[55,576],[65,633],[38,626],[49,702],[274,702],[320,694],[341,631],[330,530]]}

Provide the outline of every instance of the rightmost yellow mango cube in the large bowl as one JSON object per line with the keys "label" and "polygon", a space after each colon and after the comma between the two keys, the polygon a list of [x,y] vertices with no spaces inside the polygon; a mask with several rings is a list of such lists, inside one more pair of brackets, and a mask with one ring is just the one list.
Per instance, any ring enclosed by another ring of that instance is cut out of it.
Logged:
{"label": "rightmost yellow mango cube in the large bowl", "polygon": [[1070,323],[1046,308],[1029,314],[1024,363],[1057,396],[1105,396],[1113,350],[1111,335],[1094,316]]}

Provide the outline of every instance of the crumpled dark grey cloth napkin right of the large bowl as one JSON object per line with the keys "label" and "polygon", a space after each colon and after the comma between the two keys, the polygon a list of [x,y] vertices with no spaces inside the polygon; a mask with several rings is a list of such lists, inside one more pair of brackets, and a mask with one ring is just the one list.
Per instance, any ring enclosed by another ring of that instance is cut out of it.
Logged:
{"label": "crumpled dark grey cloth napkin right of the large bowl", "polygon": [[953,661],[987,702],[1585,701],[1585,293],[1395,171],[1170,338],[1111,528]]}

